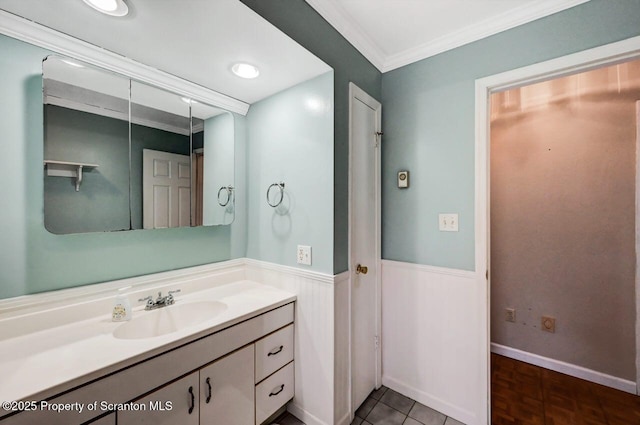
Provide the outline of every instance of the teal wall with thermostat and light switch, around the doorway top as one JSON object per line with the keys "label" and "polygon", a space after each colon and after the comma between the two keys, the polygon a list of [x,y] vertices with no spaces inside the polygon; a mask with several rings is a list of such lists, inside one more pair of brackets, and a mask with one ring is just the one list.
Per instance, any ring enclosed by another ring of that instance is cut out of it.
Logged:
{"label": "teal wall with thermostat and light switch, around the doorway top", "polygon": [[[474,269],[475,80],[640,35],[639,0],[592,0],[385,73],[382,255]],[[396,187],[399,170],[411,187]],[[460,214],[439,232],[438,213]]]}

